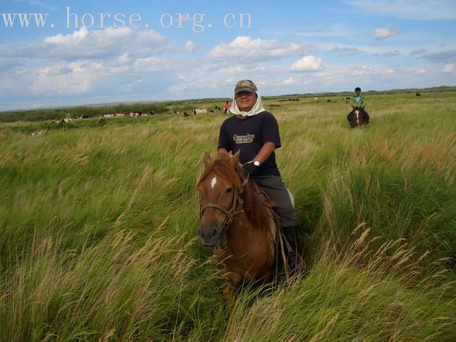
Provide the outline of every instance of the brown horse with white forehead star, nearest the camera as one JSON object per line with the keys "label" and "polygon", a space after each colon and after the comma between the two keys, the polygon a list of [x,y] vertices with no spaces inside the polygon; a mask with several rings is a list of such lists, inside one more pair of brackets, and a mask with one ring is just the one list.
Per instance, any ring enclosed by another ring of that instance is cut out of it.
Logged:
{"label": "brown horse with white forehead star, nearest the camera", "polygon": [[212,162],[205,153],[205,170],[197,185],[199,237],[214,249],[218,267],[224,271],[228,284],[223,296],[228,302],[243,282],[270,280],[279,231],[273,203],[253,188],[238,159],[239,152]]}

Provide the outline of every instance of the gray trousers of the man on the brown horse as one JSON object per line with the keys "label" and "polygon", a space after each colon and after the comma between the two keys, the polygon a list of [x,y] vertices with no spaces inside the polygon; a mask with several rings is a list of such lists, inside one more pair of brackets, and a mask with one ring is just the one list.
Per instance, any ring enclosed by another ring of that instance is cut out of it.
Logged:
{"label": "gray trousers of the man on the brown horse", "polygon": [[258,178],[252,177],[252,180],[262,187],[264,192],[274,201],[274,209],[279,215],[282,228],[297,226],[296,211],[294,211],[290,194],[288,194],[281,177],[261,176]]}

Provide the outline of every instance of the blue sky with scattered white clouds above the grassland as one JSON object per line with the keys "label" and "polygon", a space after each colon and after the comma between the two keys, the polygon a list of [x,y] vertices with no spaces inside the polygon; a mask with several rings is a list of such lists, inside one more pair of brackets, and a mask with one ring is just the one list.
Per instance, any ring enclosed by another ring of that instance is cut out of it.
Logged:
{"label": "blue sky with scattered white clouds above the grassland", "polygon": [[456,86],[456,1],[1,1],[0,110],[231,98],[240,79],[262,95]]}

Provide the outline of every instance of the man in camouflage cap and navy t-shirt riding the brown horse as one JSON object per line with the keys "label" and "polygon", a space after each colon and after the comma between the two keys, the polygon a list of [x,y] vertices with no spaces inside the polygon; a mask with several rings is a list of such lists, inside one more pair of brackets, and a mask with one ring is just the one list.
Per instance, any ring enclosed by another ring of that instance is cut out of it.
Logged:
{"label": "man in camouflage cap and navy t-shirt riding the brown horse", "polygon": [[248,79],[236,84],[229,110],[235,115],[227,118],[220,127],[218,155],[229,156],[230,152],[235,154],[240,150],[239,161],[249,179],[262,187],[274,201],[283,234],[291,247],[288,266],[299,272],[303,266],[298,252],[298,220],[275,161],[274,150],[281,146],[277,120],[264,109],[257,86]]}

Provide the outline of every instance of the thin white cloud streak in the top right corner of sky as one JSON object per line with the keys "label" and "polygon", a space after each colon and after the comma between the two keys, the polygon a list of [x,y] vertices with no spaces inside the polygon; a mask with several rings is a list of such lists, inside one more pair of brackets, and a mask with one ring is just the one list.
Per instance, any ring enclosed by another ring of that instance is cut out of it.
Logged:
{"label": "thin white cloud streak in the top right corner of sky", "polygon": [[[360,10],[382,16],[418,20],[455,20],[454,0],[348,0]],[[364,14],[360,12],[360,14]]]}

